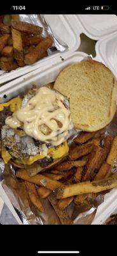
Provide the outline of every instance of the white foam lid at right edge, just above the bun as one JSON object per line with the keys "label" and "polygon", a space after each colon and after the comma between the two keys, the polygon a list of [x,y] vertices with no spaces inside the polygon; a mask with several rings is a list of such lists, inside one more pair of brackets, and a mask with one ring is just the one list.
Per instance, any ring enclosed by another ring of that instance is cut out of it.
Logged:
{"label": "white foam lid at right edge, just above the bun", "polygon": [[95,45],[95,60],[102,61],[117,79],[117,32],[104,36]]}

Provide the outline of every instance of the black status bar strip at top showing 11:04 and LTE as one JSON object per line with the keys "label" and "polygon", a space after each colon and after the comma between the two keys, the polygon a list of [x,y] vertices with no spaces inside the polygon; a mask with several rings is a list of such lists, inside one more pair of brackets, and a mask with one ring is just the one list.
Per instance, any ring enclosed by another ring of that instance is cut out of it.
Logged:
{"label": "black status bar strip at top showing 11:04 and LTE", "polygon": [[[86,7],[88,6],[109,6],[109,10],[85,10]],[[25,10],[13,10],[13,6],[25,6]],[[102,1],[100,3],[97,1],[88,1],[85,3],[85,1],[1,1],[1,6],[0,6],[0,12],[1,14],[15,14],[15,13],[20,13],[20,14],[116,14],[116,1],[112,4],[112,1]]]}

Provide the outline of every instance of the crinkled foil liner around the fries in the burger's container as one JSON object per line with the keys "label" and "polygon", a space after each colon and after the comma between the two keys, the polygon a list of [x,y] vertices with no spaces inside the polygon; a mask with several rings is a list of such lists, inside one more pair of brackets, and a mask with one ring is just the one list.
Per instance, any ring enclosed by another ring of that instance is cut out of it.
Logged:
{"label": "crinkled foil liner around the fries in the burger's container", "polygon": [[[110,134],[115,136],[117,134],[116,127],[117,113],[111,124],[100,132],[105,132],[106,135]],[[42,200],[45,212],[39,212],[36,207],[31,204],[24,181],[18,180],[15,177],[15,170],[13,170],[13,166],[11,166],[11,164],[4,165],[3,161],[0,160],[0,170],[1,179],[3,179],[3,188],[24,225],[60,225],[60,220],[48,199]],[[113,172],[116,171],[117,161],[113,168]],[[97,212],[97,207],[104,201],[104,195],[106,193],[109,193],[109,191],[104,191],[101,194],[98,193],[95,198],[91,197],[88,205],[75,205],[74,203],[71,203],[71,205],[67,207],[67,213],[72,219],[73,224],[90,225]]]}

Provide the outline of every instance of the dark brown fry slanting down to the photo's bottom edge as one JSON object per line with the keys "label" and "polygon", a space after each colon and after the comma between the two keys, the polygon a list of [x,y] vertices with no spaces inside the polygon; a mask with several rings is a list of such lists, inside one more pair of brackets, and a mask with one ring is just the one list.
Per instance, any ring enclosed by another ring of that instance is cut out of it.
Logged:
{"label": "dark brown fry slanting down to the photo's bottom edge", "polygon": [[60,209],[57,205],[58,200],[55,198],[55,195],[51,194],[50,196],[48,196],[48,199],[49,199],[50,203],[52,204],[53,209],[57,213],[57,216],[59,217],[60,222],[64,225],[72,224],[72,220],[69,218],[67,211],[66,210],[60,211]]}

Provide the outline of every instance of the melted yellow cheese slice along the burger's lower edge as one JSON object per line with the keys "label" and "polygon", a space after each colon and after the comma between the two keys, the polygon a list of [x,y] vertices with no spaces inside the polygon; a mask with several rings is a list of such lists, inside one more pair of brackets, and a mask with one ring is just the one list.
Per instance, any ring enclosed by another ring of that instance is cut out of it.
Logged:
{"label": "melted yellow cheese slice along the burger's lower edge", "polygon": [[[67,145],[67,141],[65,141],[62,145],[59,145],[56,148],[49,148],[48,149],[48,156],[53,157],[53,159],[59,159],[60,157],[64,156],[69,152],[69,147]],[[43,159],[45,156],[44,154],[37,154],[36,156],[30,156],[29,158],[26,159],[17,159],[15,160],[16,163],[19,164],[27,164],[31,165],[35,161],[38,161],[40,159]],[[2,158],[4,160],[4,163],[8,163],[10,161],[11,156],[8,153],[8,151],[5,148],[2,148]]]}

